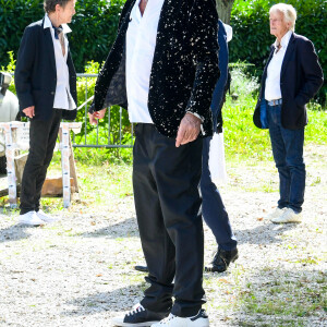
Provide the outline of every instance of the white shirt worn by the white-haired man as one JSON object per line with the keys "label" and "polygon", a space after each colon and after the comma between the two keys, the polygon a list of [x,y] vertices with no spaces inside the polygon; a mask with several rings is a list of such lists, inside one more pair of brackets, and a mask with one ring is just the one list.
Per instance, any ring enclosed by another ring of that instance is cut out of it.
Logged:
{"label": "white shirt worn by the white-haired man", "polygon": [[292,33],[293,33],[292,31],[289,31],[282,37],[280,41],[281,48],[279,49],[278,52],[277,52],[278,41],[276,40],[274,44],[275,51],[267,69],[267,78],[266,78],[266,88],[265,88],[265,99],[267,101],[281,99],[281,89],[280,89],[281,65]]}

